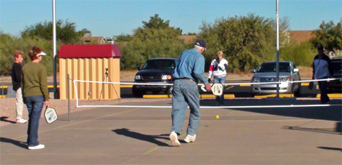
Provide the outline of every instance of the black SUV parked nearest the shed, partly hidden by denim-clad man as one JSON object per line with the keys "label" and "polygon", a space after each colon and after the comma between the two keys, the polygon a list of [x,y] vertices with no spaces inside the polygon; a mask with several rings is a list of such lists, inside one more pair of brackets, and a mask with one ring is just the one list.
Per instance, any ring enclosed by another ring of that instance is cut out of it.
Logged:
{"label": "black SUV parked nearest the shed, partly hidden by denim-clad man", "polygon": [[[153,83],[153,84],[173,84],[174,69],[178,65],[176,58],[153,58],[147,60],[142,67],[137,67],[135,74],[135,83]],[[134,97],[143,97],[146,92],[159,94],[159,92],[171,94],[172,86],[157,85],[133,85],[132,92]]]}

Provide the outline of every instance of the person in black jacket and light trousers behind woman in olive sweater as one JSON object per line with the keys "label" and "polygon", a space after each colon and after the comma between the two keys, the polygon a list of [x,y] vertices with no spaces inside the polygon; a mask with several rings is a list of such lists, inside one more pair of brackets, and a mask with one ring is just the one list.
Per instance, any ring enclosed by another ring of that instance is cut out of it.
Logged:
{"label": "person in black jacket and light trousers behind woman in olive sweater", "polygon": [[21,88],[22,71],[21,62],[23,62],[23,51],[14,52],[14,64],[12,66],[12,86],[16,92],[16,123],[26,123],[27,120],[23,119],[23,94]]}

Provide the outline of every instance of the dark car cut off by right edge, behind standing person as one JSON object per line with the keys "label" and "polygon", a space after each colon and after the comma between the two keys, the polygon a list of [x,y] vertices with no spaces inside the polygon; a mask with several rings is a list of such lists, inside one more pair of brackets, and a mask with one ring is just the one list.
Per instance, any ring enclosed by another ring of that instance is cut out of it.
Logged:
{"label": "dark car cut off by right edge, behind standing person", "polygon": [[[334,75],[332,78],[342,77],[342,58],[332,58],[331,59],[332,70]],[[342,90],[342,79],[328,81],[327,89],[329,92],[341,91]]]}

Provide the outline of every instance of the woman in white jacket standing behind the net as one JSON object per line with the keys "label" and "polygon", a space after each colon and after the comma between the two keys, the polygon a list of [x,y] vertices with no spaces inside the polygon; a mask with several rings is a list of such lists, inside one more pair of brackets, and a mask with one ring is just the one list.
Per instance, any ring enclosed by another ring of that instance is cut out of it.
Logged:
{"label": "woman in white jacket standing behind the net", "polygon": [[[218,51],[216,53],[217,58],[211,61],[209,67],[209,74],[208,74],[208,81],[210,83],[211,76],[213,76],[213,83],[226,83],[226,69],[228,66],[228,62],[226,59],[223,58],[223,52]],[[217,105],[224,105],[224,92],[222,92],[221,96],[216,96],[216,101],[218,101]]]}

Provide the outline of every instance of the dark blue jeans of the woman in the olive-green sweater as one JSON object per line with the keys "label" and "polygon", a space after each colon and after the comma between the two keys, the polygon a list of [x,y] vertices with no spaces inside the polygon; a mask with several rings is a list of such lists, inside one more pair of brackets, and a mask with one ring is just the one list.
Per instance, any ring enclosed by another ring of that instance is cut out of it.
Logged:
{"label": "dark blue jeans of the woman in the olive-green sweater", "polygon": [[35,147],[39,145],[38,142],[38,127],[40,114],[42,114],[42,107],[44,105],[43,96],[25,97],[25,104],[29,111],[29,125],[27,128],[27,145]]}

